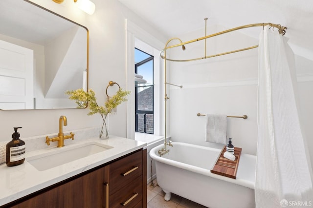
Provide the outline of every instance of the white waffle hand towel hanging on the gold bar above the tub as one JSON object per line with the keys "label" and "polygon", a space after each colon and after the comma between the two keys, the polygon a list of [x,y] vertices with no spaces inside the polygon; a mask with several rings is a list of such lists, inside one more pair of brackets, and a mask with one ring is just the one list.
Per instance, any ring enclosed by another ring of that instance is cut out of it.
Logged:
{"label": "white waffle hand towel hanging on the gold bar above the tub", "polygon": [[227,116],[226,115],[206,115],[205,142],[227,144]]}

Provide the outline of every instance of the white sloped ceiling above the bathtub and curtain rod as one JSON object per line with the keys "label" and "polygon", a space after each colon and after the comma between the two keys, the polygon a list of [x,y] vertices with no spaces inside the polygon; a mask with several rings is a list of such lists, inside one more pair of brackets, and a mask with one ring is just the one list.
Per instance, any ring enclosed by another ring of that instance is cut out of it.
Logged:
{"label": "white sloped ceiling above the bathtub and curtain rod", "polygon": [[[204,27],[271,22],[288,27],[295,53],[313,60],[313,0],[119,0],[168,38]],[[260,30],[243,33],[258,39]],[[200,38],[200,37],[197,37]]]}

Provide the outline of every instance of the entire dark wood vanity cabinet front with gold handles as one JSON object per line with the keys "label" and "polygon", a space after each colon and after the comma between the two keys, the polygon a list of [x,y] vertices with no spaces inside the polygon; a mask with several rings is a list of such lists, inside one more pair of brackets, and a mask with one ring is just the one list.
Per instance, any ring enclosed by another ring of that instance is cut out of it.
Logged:
{"label": "entire dark wood vanity cabinet front with gold handles", "polygon": [[3,208],[146,208],[146,157],[135,151]]}

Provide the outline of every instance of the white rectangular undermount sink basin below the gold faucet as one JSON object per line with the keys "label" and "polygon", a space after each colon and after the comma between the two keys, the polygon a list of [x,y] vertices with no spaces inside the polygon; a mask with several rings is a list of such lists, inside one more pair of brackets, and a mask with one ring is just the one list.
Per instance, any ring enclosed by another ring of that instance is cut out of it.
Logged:
{"label": "white rectangular undermount sink basin below the gold faucet", "polygon": [[53,149],[52,152],[27,157],[26,160],[39,171],[44,171],[111,148],[113,147],[97,142],[89,142],[77,146]]}

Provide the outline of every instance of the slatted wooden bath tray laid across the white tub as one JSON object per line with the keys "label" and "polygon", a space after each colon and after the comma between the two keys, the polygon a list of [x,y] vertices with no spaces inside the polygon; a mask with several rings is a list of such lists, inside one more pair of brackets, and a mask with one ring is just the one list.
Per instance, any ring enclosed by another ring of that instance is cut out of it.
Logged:
{"label": "slatted wooden bath tray laid across the white tub", "polygon": [[236,179],[237,168],[239,164],[241,148],[234,147],[234,155],[236,159],[234,161],[224,158],[224,152],[226,151],[226,146],[222,149],[218,160],[216,161],[214,167],[211,169],[211,173],[218,175],[223,175],[228,178]]}

